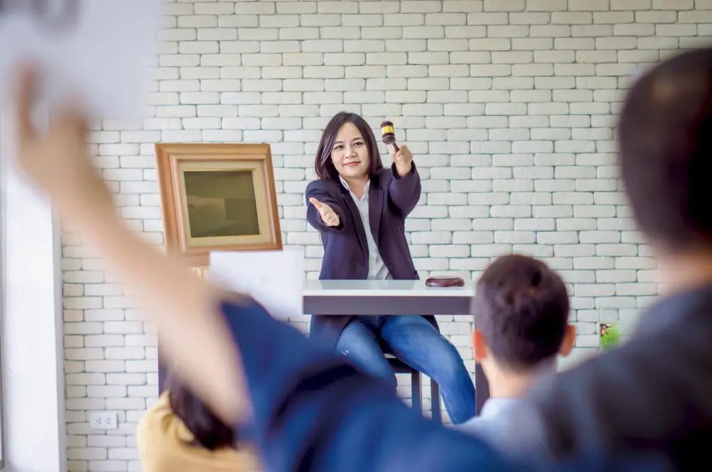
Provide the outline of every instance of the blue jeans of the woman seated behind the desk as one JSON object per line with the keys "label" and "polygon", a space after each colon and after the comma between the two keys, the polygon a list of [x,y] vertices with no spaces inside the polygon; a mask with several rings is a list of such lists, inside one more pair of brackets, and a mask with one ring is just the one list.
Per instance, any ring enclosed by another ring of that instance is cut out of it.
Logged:
{"label": "blue jeans of the woman seated behind the desk", "polygon": [[388,353],[438,383],[454,424],[475,416],[475,386],[460,353],[422,316],[354,316],[342,331],[336,350],[365,372],[391,382],[395,390],[396,377],[384,357],[381,340],[387,343]]}

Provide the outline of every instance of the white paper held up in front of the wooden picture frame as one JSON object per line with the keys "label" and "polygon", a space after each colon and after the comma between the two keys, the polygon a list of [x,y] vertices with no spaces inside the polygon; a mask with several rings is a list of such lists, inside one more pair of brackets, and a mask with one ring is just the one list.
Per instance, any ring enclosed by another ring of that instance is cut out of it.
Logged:
{"label": "white paper held up in front of the wooden picture frame", "polygon": [[304,254],[300,251],[211,252],[207,277],[250,294],[281,321],[303,314]]}

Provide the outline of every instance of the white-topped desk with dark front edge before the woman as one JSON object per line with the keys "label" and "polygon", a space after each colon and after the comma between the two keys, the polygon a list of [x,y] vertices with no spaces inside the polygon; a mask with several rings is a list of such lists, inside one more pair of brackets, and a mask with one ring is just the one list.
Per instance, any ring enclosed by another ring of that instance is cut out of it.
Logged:
{"label": "white-topped desk with dark front edge before the woman", "polygon": [[[429,287],[424,280],[308,280],[308,315],[468,315],[474,286]],[[481,365],[475,366],[476,414],[489,398]]]}

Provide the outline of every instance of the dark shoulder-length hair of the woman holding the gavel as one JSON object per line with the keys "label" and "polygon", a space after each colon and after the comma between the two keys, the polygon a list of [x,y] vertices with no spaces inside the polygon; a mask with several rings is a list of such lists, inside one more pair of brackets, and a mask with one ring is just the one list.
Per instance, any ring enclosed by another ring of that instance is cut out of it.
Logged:
{"label": "dark shoulder-length hair of the woman holding the gavel", "polygon": [[339,112],[330,119],[329,123],[324,128],[319,140],[319,147],[316,151],[316,159],[314,160],[314,171],[318,178],[324,181],[337,180],[339,173],[331,161],[331,151],[336,141],[336,135],[339,129],[347,123],[355,124],[361,132],[361,136],[366,141],[366,149],[368,149],[368,175],[375,177],[383,168],[381,154],[378,151],[378,143],[373,130],[368,125],[365,119],[355,113]]}

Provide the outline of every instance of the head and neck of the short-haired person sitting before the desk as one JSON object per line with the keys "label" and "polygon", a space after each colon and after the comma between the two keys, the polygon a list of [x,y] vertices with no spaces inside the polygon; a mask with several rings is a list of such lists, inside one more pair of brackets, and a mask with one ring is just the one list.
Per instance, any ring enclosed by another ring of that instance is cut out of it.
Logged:
{"label": "head and neck of the short-haired person sitting before the desk", "polygon": [[555,372],[575,342],[569,311],[564,281],[544,262],[513,254],[487,267],[472,304],[473,353],[493,397],[522,395]]}

